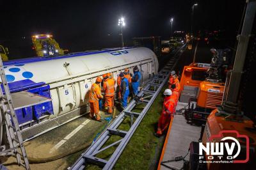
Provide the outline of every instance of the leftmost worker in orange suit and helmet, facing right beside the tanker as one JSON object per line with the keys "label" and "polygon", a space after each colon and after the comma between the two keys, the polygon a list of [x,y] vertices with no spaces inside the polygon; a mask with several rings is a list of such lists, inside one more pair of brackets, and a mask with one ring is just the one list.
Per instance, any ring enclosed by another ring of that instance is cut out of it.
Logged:
{"label": "leftmost worker in orange suit and helmet, facing right beside the tanker", "polygon": [[101,121],[100,114],[99,114],[99,100],[103,98],[101,95],[101,88],[100,83],[102,82],[102,79],[100,77],[97,77],[96,82],[92,84],[91,90],[90,90],[90,96],[89,96],[89,102],[90,102],[90,117],[96,118],[97,121]]}

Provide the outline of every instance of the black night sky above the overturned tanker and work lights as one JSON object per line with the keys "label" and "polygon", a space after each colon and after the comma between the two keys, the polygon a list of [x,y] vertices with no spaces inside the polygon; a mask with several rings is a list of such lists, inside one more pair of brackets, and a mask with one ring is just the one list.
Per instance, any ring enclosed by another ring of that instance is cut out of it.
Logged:
{"label": "black night sky above the overturned tanker and work lights", "polygon": [[[223,29],[236,36],[244,2],[214,0],[176,1],[0,1],[0,43],[9,47],[11,57],[29,57],[31,35],[51,33],[60,47],[70,52],[120,46],[118,18],[124,16],[124,39],[131,45],[134,36],[170,36],[189,31],[191,6],[194,30]],[[29,47],[29,48],[28,48]]]}

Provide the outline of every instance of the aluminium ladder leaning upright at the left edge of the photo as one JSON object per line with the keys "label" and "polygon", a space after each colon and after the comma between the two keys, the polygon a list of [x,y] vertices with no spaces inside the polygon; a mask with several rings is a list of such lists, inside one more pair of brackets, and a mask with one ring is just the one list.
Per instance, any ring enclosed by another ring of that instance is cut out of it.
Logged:
{"label": "aluminium ladder leaning upright at the left edge of the photo", "polygon": [[[4,88],[4,93],[2,87],[0,86],[0,107],[2,115],[2,125],[6,127],[6,134],[10,148],[0,152],[0,155],[11,155],[15,154],[19,166],[23,166],[26,169],[30,169],[28,157],[26,155],[26,150],[24,147],[23,139],[20,133],[19,123],[13,108],[12,97],[10,89],[6,80],[6,75],[4,73],[3,61],[0,55],[0,76]],[[21,153],[20,153],[21,151]]]}

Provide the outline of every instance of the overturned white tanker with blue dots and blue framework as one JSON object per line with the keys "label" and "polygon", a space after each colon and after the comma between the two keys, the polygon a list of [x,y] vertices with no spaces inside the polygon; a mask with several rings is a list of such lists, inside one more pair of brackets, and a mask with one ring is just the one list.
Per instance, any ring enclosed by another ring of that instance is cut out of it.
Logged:
{"label": "overturned white tanker with blue dots and blue framework", "polygon": [[19,97],[22,92],[51,99],[15,109],[24,141],[88,112],[90,87],[98,76],[111,72],[116,79],[125,68],[136,65],[142,70],[142,81],[147,81],[157,73],[156,54],[145,47],[131,47],[4,62],[10,92],[18,102],[24,100]]}

